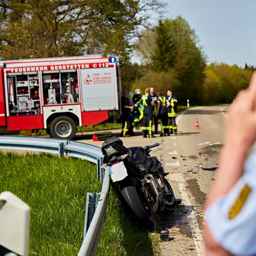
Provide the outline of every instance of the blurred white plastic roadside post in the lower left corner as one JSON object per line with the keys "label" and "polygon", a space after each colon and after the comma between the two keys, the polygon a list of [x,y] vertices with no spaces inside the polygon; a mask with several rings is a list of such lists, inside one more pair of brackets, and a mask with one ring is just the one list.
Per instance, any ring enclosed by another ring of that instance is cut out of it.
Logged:
{"label": "blurred white plastic roadside post in the lower left corner", "polygon": [[0,194],[0,245],[28,256],[30,208],[11,192]]}

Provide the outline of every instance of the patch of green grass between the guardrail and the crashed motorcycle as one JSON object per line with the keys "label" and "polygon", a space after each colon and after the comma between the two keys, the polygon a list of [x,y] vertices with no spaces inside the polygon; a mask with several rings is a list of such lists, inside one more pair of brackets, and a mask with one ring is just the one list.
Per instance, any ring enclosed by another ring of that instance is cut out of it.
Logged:
{"label": "patch of green grass between the guardrail and the crashed motorcycle", "polygon": [[154,256],[159,254],[159,237],[139,230],[122,208],[118,185],[110,187],[106,221],[96,256]]}

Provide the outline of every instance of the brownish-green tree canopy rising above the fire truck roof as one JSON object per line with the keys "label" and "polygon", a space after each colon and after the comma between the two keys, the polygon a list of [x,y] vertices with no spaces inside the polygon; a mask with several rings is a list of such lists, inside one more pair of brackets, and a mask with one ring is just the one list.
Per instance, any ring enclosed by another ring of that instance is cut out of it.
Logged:
{"label": "brownish-green tree canopy rising above the fire truck roof", "polygon": [[160,0],[6,0],[0,3],[0,58],[117,54],[129,62],[140,25]]}

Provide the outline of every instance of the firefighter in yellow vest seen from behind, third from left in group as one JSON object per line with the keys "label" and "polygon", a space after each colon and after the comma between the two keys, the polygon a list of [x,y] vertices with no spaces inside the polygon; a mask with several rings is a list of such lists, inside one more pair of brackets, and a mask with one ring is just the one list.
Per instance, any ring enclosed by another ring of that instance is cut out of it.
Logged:
{"label": "firefighter in yellow vest seen from behind, third from left in group", "polygon": [[154,106],[154,101],[149,94],[149,88],[146,88],[145,94],[142,96],[142,104],[144,107],[142,121],[142,138],[146,138],[147,134],[149,135],[149,138],[153,138],[155,137],[152,135],[152,106]]}

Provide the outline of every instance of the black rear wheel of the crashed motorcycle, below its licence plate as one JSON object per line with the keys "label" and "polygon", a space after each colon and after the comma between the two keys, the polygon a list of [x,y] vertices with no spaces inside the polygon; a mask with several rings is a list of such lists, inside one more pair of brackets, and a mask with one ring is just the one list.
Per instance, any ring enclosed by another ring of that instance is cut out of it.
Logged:
{"label": "black rear wheel of the crashed motorcycle, below its licence plate", "polygon": [[138,225],[142,228],[151,228],[155,223],[155,214],[145,197],[141,183],[134,178],[127,177],[119,183],[119,190],[135,214]]}

